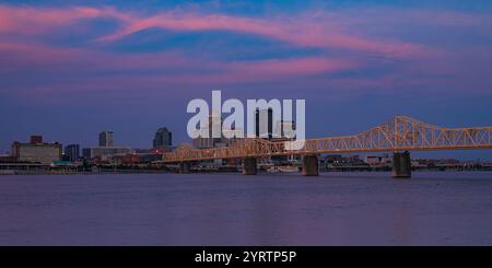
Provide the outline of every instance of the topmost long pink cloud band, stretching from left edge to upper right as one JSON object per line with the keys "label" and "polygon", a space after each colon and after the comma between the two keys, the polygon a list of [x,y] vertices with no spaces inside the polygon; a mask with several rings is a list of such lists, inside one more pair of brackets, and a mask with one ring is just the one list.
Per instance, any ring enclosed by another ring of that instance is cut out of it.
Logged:
{"label": "topmost long pink cloud band, stretching from left edge to upper right", "polygon": [[0,5],[0,33],[39,34],[80,20],[109,18],[120,21],[124,26],[101,37],[99,42],[116,40],[145,28],[160,27],[174,31],[234,31],[301,47],[348,49],[390,57],[415,57],[426,53],[424,47],[417,44],[344,34],[333,26],[337,21],[331,20],[328,14],[323,16],[323,21],[319,21],[319,15],[313,16],[309,13],[294,18],[278,15],[261,19],[166,11],[148,16],[108,7],[57,9]]}

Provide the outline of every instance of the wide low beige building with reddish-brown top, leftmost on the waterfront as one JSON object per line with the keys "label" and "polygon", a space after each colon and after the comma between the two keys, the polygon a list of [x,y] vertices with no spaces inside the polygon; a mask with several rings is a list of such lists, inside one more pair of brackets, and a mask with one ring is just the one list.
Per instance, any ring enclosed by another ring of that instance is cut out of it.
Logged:
{"label": "wide low beige building with reddish-brown top, leftmost on the waterfront", "polygon": [[44,143],[43,137],[32,136],[28,143],[14,141],[11,153],[19,162],[50,164],[61,160],[61,144]]}

